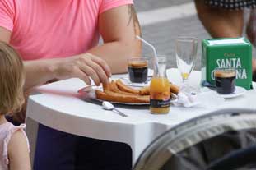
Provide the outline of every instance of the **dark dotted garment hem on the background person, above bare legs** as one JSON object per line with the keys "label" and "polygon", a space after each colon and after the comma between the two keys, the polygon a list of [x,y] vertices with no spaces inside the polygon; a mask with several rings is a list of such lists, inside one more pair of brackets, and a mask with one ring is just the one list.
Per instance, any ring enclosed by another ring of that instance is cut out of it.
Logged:
{"label": "dark dotted garment hem on the background person, above bare legs", "polygon": [[221,7],[229,10],[243,10],[244,8],[256,7],[255,0],[204,0],[212,7]]}

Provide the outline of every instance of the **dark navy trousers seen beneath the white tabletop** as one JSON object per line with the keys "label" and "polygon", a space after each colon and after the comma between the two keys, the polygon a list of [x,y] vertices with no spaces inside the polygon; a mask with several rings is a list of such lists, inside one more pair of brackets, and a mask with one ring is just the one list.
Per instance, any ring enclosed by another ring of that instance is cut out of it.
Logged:
{"label": "dark navy trousers seen beneath the white tabletop", "polygon": [[123,143],[73,136],[40,125],[35,170],[131,170],[132,149]]}

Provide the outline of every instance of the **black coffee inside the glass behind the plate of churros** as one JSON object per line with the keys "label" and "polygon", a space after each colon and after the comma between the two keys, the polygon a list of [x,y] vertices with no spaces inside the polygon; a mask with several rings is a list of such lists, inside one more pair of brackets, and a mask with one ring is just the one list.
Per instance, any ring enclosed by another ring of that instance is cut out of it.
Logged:
{"label": "black coffee inside the glass behind the plate of churros", "polygon": [[143,83],[147,81],[147,65],[128,66],[129,79],[133,83]]}

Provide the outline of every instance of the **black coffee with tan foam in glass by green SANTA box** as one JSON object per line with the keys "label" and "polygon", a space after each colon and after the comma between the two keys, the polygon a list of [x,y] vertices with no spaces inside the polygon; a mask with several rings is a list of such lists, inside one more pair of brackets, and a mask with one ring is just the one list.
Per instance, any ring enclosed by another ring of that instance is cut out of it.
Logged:
{"label": "black coffee with tan foam in glass by green SANTA box", "polygon": [[232,94],[235,92],[235,72],[215,73],[216,91],[219,94]]}

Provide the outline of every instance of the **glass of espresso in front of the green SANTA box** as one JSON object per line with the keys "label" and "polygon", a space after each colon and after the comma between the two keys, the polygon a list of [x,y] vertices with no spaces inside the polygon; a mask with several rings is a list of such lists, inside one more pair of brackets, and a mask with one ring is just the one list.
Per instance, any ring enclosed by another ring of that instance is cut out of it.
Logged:
{"label": "glass of espresso in front of the green SANTA box", "polygon": [[216,68],[214,76],[217,93],[232,94],[235,92],[235,68]]}

